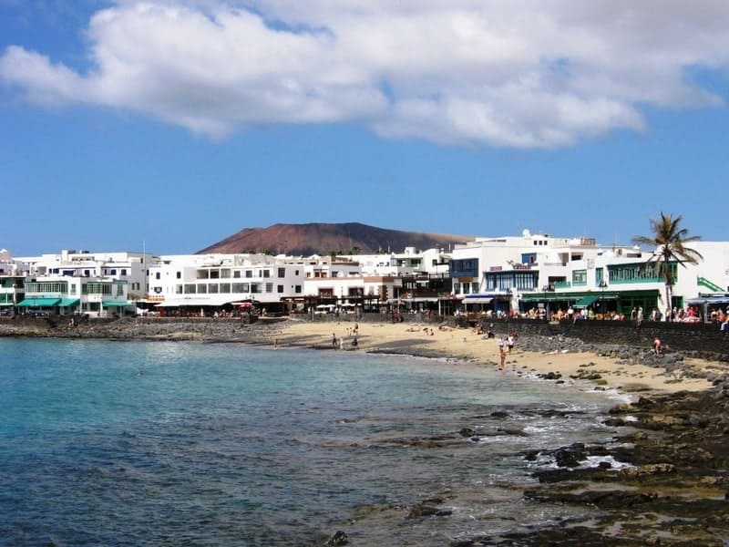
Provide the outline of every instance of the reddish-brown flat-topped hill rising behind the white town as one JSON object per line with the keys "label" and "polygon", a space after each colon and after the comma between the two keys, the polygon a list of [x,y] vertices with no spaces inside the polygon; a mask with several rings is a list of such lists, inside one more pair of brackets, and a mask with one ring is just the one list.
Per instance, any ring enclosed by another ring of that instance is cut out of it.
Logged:
{"label": "reddish-brown flat-topped hill rising behind the white town", "polygon": [[378,251],[402,253],[406,247],[418,251],[432,248],[450,249],[454,243],[472,240],[465,235],[402,232],[367,226],[359,222],[327,224],[273,224],[268,228],[245,228],[198,252],[272,253],[310,256],[332,252],[371,254]]}

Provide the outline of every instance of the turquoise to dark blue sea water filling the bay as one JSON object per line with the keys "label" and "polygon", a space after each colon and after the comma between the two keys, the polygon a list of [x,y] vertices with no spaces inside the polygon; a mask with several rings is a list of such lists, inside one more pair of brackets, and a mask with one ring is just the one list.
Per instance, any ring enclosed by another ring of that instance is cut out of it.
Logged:
{"label": "turquoise to dark blue sea water filling the bay", "polygon": [[[609,439],[612,404],[433,359],[0,339],[0,544],[322,545],[341,530],[354,546],[440,546],[521,530],[577,510],[522,501],[537,464],[519,452]],[[434,498],[447,514],[406,518]]]}

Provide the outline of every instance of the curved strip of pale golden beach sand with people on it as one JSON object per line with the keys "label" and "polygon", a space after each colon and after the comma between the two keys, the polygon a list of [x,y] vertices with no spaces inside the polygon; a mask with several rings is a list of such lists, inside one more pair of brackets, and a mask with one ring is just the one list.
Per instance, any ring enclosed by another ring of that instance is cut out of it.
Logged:
{"label": "curved strip of pale golden beach sand with people on it", "polygon": [[[344,337],[344,349],[352,350],[354,338],[350,322],[321,322],[289,320],[282,325],[278,346],[332,347],[332,338]],[[358,351],[430,356],[476,362],[482,366],[498,368],[498,339],[485,339],[470,329],[433,329],[433,335],[426,334],[426,325],[392,323],[361,323],[357,335]],[[428,326],[428,328],[430,328]],[[429,332],[429,331],[428,331]],[[711,363],[699,359],[685,359],[682,372],[667,373],[663,368],[630,365],[610,357],[589,353],[538,353],[519,349],[519,340],[506,357],[504,371],[519,375],[559,373],[565,383],[580,383],[587,387],[601,386],[621,392],[698,391],[712,387],[703,378],[683,377],[683,371],[690,368],[716,367],[724,369],[725,364]],[[576,379],[585,375],[600,375],[593,380]],[[590,384],[591,383],[591,384]]]}

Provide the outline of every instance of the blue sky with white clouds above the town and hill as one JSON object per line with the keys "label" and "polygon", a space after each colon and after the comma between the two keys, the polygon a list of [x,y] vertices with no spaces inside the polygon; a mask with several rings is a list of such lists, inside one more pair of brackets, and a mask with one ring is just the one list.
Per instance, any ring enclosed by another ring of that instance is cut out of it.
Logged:
{"label": "blue sky with white clouds above the town and hill", "polygon": [[725,0],[0,0],[0,248],[727,237]]}

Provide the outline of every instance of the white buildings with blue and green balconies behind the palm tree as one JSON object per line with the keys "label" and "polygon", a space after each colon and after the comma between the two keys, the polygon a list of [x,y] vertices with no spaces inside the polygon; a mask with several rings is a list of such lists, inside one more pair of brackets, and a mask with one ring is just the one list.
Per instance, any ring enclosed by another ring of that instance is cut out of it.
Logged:
{"label": "white buildings with blue and green balconies behind the palm tree", "polygon": [[671,303],[665,302],[663,275],[645,267],[653,250],[529,231],[520,238],[457,245],[451,262],[454,295],[464,304],[488,304],[496,311],[589,307],[593,313],[630,315],[633,308],[642,308],[647,317],[655,308],[664,315],[667,308],[681,308],[702,293],[729,291],[729,243],[691,247],[703,260],[672,263]]}

